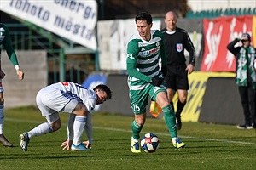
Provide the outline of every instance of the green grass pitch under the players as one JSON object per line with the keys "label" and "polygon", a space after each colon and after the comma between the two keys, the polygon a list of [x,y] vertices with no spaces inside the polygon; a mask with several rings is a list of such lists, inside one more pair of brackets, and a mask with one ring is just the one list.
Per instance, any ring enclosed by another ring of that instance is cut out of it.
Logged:
{"label": "green grass pitch under the players", "polygon": [[[28,151],[19,147],[19,135],[45,122],[37,108],[5,111],[4,133],[15,145],[0,146],[0,169],[255,169],[256,131],[234,125],[183,122],[178,131],[187,147],[172,148],[162,119],[148,118],[143,133],[160,137],[160,148],[148,154],[131,153],[131,116],[93,115],[94,144],[87,152],[61,150],[67,139],[68,115],[61,113],[62,127],[55,133],[31,139]],[[84,133],[85,134],[85,133]],[[84,140],[85,135],[84,135]]]}

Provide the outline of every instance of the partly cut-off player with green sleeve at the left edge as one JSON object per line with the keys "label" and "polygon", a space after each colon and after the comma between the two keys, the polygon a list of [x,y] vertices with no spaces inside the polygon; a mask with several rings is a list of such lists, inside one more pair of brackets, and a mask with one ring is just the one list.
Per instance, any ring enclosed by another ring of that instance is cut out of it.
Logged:
{"label": "partly cut-off player with green sleeve at the left edge", "polygon": [[9,34],[9,29],[3,23],[0,23],[0,143],[2,143],[3,146],[12,147],[13,144],[11,144],[9,140],[6,139],[5,136],[3,135],[4,99],[3,99],[2,79],[5,76],[5,73],[1,69],[1,50],[3,47],[5,48],[6,53],[8,54],[9,60],[15,66],[16,74],[18,75],[19,80],[22,80],[24,78],[24,73],[23,71],[20,70],[20,66],[18,63],[17,56],[15,54],[15,50],[12,47],[12,41]]}

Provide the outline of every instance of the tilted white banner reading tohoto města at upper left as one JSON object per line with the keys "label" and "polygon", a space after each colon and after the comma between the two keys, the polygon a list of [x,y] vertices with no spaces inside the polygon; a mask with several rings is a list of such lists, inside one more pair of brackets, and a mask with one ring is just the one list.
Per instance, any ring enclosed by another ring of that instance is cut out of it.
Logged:
{"label": "tilted white banner reading tohoto m\u011bsta at upper left", "polygon": [[2,11],[96,49],[96,0],[4,0]]}

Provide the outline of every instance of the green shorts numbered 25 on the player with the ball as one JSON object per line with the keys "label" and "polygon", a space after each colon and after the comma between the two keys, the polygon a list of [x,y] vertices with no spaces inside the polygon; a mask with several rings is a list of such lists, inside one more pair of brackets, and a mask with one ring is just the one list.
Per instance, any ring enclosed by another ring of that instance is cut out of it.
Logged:
{"label": "green shorts numbered 25 on the player with the ball", "polygon": [[131,90],[130,98],[131,109],[133,113],[136,115],[146,113],[148,97],[150,97],[151,100],[155,101],[156,94],[160,92],[166,92],[166,87],[163,85],[157,87],[149,84],[148,87],[144,88],[143,90]]}

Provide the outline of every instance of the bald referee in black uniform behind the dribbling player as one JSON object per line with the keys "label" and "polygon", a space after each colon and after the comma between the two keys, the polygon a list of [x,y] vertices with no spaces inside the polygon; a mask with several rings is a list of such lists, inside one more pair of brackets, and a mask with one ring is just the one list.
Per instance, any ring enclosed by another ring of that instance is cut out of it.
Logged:
{"label": "bald referee in black uniform behind the dribbling player", "polygon": [[[173,95],[177,91],[177,129],[182,128],[181,113],[186,105],[189,80],[188,74],[194,71],[195,48],[188,32],[176,26],[177,14],[172,11],[166,13],[166,28],[162,31],[166,44],[167,74],[165,77],[168,99],[173,106]],[[184,49],[189,52],[189,65],[186,64]]]}

